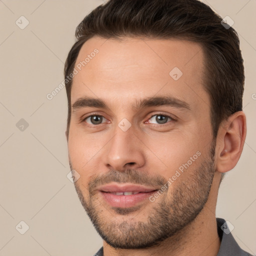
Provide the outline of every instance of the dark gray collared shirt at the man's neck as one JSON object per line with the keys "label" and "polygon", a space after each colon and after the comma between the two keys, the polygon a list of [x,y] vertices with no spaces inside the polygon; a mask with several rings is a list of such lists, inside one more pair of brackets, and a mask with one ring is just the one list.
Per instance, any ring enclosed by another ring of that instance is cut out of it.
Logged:
{"label": "dark gray collared shirt at the man's neck", "polygon": [[[252,256],[252,254],[249,254],[240,248],[231,232],[229,232],[228,227],[223,225],[225,223],[223,218],[216,218],[216,221],[220,239],[220,247],[217,256]],[[221,226],[225,232],[221,229]],[[93,256],[103,256],[103,246]]]}

